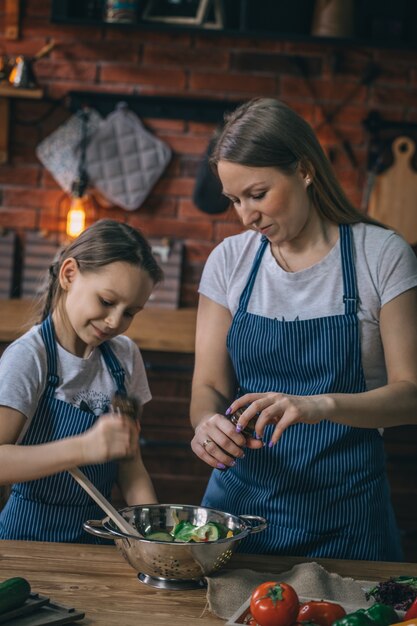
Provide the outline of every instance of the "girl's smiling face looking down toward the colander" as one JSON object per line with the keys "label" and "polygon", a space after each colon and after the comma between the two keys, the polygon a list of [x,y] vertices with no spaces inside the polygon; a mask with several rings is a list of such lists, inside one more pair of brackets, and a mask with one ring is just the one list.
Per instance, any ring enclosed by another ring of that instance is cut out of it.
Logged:
{"label": "girl's smiling face looking down toward the colander", "polygon": [[59,278],[65,293],[53,313],[55,332],[66,350],[81,357],[124,333],[154,287],[145,270],[125,261],[82,273],[71,257]]}

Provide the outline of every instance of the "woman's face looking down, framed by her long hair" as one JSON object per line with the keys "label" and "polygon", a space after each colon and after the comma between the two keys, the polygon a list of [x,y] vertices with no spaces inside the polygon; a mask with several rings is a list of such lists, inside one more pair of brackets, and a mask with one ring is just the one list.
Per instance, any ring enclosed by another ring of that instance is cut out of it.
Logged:
{"label": "woman's face looking down, framed by her long hair", "polygon": [[300,167],[294,174],[284,174],[275,167],[219,161],[217,171],[223,193],[233,202],[242,224],[272,244],[294,239],[310,219],[308,174]]}

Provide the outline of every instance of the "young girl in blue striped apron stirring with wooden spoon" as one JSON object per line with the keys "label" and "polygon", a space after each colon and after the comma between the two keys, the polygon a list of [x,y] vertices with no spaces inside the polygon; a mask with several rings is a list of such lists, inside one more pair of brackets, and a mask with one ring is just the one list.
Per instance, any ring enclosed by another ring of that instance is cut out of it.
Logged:
{"label": "young girl in blue striped apron stirring with wooden spoon", "polygon": [[82,524],[102,511],[65,470],[81,466],[108,499],[117,483],[129,505],[156,502],[139,426],[111,402],[151,398],[122,333],[163,274],[144,237],[113,220],[84,231],[49,274],[41,323],[0,360],[0,484],[13,483],[0,538],[97,543]]}

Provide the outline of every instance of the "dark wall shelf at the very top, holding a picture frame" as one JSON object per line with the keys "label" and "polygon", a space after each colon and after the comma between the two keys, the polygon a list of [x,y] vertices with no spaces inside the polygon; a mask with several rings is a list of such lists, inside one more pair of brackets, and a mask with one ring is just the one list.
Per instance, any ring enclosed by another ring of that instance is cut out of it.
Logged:
{"label": "dark wall shelf at the very top, holding a picture frame", "polygon": [[[311,0],[293,0],[292,3],[277,0],[268,4],[267,0],[223,0],[223,26],[217,28],[207,28],[200,23],[172,23],[163,17],[160,21],[149,21],[146,19],[149,1],[141,3],[136,21],[126,24],[106,22],[100,11],[89,14],[87,9],[83,11],[70,0],[52,0],[51,21],[69,26],[121,28],[128,31],[157,28],[164,31],[210,32],[227,37],[253,37],[342,47],[355,45],[398,50],[415,50],[417,47],[417,7],[414,0],[405,0],[401,5],[395,0],[389,0],[386,3],[388,8],[384,5],[385,9],[378,8],[377,0],[355,0],[354,28],[350,37],[311,34],[314,10]],[[384,10],[388,11],[390,17],[385,15]],[[399,29],[399,32],[395,29]]]}

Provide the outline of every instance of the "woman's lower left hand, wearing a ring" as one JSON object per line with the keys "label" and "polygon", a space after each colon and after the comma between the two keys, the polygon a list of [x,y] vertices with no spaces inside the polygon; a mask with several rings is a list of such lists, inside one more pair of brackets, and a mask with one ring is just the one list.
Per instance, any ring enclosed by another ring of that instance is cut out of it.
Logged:
{"label": "woman's lower left hand, wearing a ring", "polygon": [[232,467],[242,458],[244,447],[261,448],[261,441],[245,439],[235,426],[220,413],[201,422],[191,441],[191,448],[207,465],[217,469]]}

